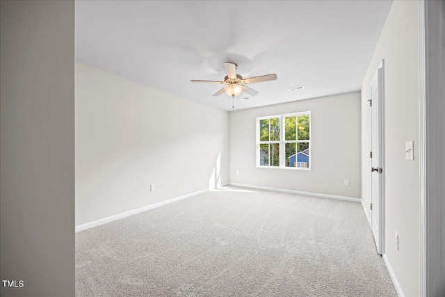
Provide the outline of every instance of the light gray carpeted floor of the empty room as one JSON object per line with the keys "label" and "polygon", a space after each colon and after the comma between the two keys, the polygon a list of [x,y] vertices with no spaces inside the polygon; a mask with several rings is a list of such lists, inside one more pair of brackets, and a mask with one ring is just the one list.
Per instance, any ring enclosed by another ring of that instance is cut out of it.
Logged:
{"label": "light gray carpeted floor of the empty room", "polygon": [[362,205],[227,186],[76,234],[76,296],[396,296]]}

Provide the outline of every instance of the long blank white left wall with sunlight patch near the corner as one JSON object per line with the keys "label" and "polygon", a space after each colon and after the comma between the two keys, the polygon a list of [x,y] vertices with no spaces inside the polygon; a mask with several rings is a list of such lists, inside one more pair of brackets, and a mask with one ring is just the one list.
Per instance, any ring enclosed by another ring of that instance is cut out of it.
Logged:
{"label": "long blank white left wall with sunlight patch near the corner", "polygon": [[76,225],[227,184],[228,127],[226,111],[76,63]]}

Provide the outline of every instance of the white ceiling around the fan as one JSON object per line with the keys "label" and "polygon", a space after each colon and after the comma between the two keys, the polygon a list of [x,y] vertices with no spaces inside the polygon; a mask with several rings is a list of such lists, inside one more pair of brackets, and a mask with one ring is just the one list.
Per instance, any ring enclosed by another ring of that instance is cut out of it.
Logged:
{"label": "white ceiling around the fan", "polygon": [[[76,1],[76,61],[232,111],[223,63],[256,96],[235,110],[360,90],[391,1]],[[290,92],[294,86],[304,90]]]}

